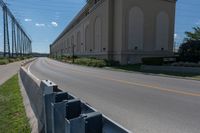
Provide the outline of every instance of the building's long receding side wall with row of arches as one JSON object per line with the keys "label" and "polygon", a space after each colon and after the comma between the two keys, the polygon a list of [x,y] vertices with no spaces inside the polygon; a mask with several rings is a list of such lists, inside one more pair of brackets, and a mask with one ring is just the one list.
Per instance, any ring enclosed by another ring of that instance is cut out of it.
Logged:
{"label": "building's long receding side wall with row of arches", "polygon": [[[58,55],[98,56],[108,55],[108,1],[96,4],[79,24],[75,25],[54,45]],[[53,46],[54,47],[54,46]],[[52,49],[54,49],[52,47]],[[66,49],[64,52],[62,49]]]}

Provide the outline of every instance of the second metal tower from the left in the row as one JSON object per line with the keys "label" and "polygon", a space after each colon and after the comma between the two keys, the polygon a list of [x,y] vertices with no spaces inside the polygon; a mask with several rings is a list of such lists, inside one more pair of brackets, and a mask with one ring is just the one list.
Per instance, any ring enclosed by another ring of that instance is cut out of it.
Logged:
{"label": "second metal tower from the left in the row", "polygon": [[16,49],[15,20],[12,18],[12,56],[16,55]]}

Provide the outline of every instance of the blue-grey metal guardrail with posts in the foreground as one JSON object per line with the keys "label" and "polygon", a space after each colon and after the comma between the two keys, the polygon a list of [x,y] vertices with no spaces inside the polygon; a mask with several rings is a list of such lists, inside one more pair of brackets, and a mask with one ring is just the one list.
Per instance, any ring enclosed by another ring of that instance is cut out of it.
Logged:
{"label": "blue-grey metal guardrail with posts in the foreground", "polygon": [[40,84],[46,133],[129,133],[49,80]]}

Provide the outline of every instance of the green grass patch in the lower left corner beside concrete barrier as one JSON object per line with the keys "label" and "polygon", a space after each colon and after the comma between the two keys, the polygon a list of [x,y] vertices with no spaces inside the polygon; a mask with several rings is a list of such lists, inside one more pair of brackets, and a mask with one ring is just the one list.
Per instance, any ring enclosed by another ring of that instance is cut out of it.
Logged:
{"label": "green grass patch in the lower left corner beside concrete barrier", "polygon": [[31,132],[18,84],[18,75],[0,86],[0,132]]}

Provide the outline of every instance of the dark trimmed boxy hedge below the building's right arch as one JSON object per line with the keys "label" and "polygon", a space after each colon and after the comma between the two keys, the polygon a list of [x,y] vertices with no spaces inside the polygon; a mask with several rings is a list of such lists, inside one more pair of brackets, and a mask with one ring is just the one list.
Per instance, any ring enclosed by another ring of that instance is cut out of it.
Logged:
{"label": "dark trimmed boxy hedge below the building's right arch", "polygon": [[142,58],[142,63],[144,65],[163,65],[163,57],[146,57]]}

